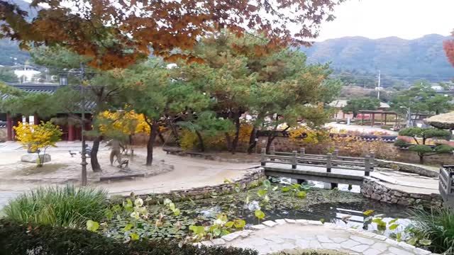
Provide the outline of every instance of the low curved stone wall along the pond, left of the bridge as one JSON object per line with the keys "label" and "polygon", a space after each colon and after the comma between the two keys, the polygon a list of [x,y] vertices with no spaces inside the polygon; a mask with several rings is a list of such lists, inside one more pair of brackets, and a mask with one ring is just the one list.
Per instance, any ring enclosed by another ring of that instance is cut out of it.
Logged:
{"label": "low curved stone wall along the pond, left of the bridge", "polygon": [[165,198],[169,198],[174,202],[189,200],[189,199],[202,199],[211,196],[226,195],[235,192],[238,186],[240,190],[254,188],[258,186],[263,180],[266,179],[265,169],[262,167],[256,169],[248,169],[243,177],[234,179],[231,183],[222,183],[214,186],[203,186],[199,188],[188,188],[182,190],[174,190],[167,193],[157,193],[142,195],[140,198],[147,200],[148,204],[154,204],[158,201],[162,202]]}

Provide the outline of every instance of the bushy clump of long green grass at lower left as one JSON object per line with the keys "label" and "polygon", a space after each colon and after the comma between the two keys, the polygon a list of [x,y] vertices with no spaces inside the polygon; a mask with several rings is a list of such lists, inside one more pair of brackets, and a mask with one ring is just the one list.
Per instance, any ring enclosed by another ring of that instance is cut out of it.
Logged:
{"label": "bushy clump of long green grass at lower left", "polygon": [[6,219],[21,224],[84,227],[87,220],[101,220],[106,191],[94,188],[38,188],[11,200],[4,208]]}

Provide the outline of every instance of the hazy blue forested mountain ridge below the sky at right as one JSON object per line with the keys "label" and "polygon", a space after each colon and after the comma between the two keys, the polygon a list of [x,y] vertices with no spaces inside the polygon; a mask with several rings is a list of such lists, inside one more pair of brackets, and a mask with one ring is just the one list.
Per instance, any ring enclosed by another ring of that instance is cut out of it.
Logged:
{"label": "hazy blue forested mountain ridge below the sky at right", "polygon": [[331,62],[336,69],[358,69],[394,77],[454,78],[443,50],[443,35],[425,35],[414,40],[397,37],[369,39],[345,37],[316,42],[312,47],[301,47],[308,61]]}

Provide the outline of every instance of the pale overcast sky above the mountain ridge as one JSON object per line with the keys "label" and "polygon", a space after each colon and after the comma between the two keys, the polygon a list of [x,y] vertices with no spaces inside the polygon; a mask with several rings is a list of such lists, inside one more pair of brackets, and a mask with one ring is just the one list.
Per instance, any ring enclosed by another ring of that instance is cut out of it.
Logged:
{"label": "pale overcast sky above the mountain ridge", "polygon": [[317,40],[450,35],[454,29],[454,0],[348,0],[336,7],[335,15],[336,20],[323,24]]}

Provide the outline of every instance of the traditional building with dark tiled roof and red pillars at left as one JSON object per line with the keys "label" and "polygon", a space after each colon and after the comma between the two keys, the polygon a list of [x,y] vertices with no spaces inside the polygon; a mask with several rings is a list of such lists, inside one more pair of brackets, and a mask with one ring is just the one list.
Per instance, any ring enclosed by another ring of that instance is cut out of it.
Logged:
{"label": "traditional building with dark tiled roof and red pillars at left", "polygon": [[[45,93],[45,94],[54,94],[55,91],[57,91],[58,88],[60,88],[60,85],[58,84],[6,84],[8,86],[13,86],[17,89],[22,89],[23,91],[26,91],[28,93]],[[8,98],[9,95],[3,94],[0,95],[1,100],[5,100]],[[87,120],[92,119],[92,115],[89,113],[89,109],[93,108],[93,103],[87,103],[86,109],[87,113],[85,113],[85,118]],[[80,115],[80,113],[73,113],[76,115]],[[18,115],[11,115],[10,113],[1,113],[0,112],[0,141],[1,140],[6,140],[6,141],[13,141],[15,137],[15,132],[13,127],[17,125],[19,122],[28,122],[28,123],[40,123],[40,121],[48,121],[51,118],[64,118],[68,117],[67,113],[57,113],[57,115],[52,116],[50,118],[40,118],[40,113],[35,113],[33,116],[24,116],[21,114]],[[86,130],[91,129],[91,123],[86,124]],[[82,128],[81,125],[69,125],[67,123],[60,125],[60,128],[62,129],[63,135],[62,135],[62,140],[65,141],[75,141],[75,140],[81,140],[82,138]]]}

